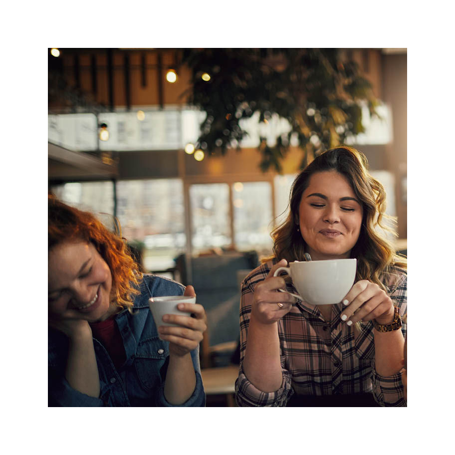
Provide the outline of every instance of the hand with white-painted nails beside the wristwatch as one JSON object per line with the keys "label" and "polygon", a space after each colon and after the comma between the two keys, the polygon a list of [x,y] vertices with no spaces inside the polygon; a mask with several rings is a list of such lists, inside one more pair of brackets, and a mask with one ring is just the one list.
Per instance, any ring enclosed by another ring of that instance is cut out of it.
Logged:
{"label": "hand with white-painted nails beside the wristwatch", "polygon": [[341,319],[348,325],[372,319],[376,319],[378,324],[393,322],[392,299],[377,284],[368,280],[357,281],[342,302],[346,308],[341,314]]}

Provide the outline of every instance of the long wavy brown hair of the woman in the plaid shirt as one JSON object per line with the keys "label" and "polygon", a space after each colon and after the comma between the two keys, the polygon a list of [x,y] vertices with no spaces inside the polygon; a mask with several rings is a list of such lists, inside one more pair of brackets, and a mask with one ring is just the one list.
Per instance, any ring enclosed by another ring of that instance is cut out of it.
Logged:
{"label": "long wavy brown hair of the woman in the plaid shirt", "polygon": [[363,207],[359,238],[351,250],[351,257],[357,258],[356,281],[367,279],[385,289],[381,275],[393,273],[394,267],[406,270],[407,259],[396,253],[385,233],[381,234],[376,230],[379,226],[385,232],[396,236],[397,234],[384,224],[386,219],[392,223],[396,223],[396,219],[385,214],[384,187],[368,172],[365,155],[353,147],[341,146],[321,153],[295,178],[288,206],[289,215],[272,231],[273,255],[266,260],[304,260],[306,243],[297,230],[300,200],[308,188],[310,177],[325,171],[336,171],[346,177]]}

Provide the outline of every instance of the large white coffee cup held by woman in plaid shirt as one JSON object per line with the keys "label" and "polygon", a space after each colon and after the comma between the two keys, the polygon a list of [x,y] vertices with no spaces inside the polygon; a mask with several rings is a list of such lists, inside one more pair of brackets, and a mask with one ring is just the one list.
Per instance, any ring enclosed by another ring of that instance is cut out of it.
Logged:
{"label": "large white coffee cup held by woman in plaid shirt", "polygon": [[277,268],[273,276],[285,271],[298,292],[298,295],[289,294],[312,305],[332,305],[340,303],[351,289],[356,266],[357,259],[294,261],[289,263],[289,267]]}

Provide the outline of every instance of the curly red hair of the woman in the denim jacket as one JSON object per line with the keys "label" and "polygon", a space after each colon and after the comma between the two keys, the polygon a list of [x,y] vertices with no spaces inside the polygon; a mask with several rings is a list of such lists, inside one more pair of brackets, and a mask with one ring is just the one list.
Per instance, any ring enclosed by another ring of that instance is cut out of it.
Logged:
{"label": "curly red hair of the woman in the denim jacket", "polygon": [[67,241],[93,243],[111,271],[111,304],[131,311],[134,295],[139,294],[142,273],[124,240],[110,232],[90,212],[67,206],[51,194],[47,196],[47,202],[47,251]]}

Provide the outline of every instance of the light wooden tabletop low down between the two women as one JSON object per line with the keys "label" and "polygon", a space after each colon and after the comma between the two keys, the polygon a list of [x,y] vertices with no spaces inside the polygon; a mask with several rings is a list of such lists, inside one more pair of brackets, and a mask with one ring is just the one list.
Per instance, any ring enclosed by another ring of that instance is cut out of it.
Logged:
{"label": "light wooden tabletop low down between the two women", "polygon": [[238,376],[238,365],[203,368],[201,376],[206,395],[225,395],[227,406],[235,406],[234,384]]}

